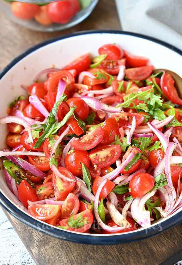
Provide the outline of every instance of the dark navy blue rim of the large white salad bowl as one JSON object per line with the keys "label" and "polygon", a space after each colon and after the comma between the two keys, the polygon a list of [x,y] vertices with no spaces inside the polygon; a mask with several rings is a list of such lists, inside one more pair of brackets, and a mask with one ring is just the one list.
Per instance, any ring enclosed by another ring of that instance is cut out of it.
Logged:
{"label": "dark navy blue rim of the large white salad bowl", "polygon": [[[182,51],[178,48],[174,47],[173,45],[170,45],[166,42],[163,42],[162,40],[158,40],[156,38],[138,34],[138,33],[132,33],[127,31],[119,31],[119,30],[91,30],[91,31],[81,31],[81,32],[75,32],[66,34],[63,36],[58,36],[55,38],[51,38],[49,40],[45,40],[39,44],[36,44],[35,46],[32,46],[28,50],[25,50],[22,54],[20,54],[18,57],[16,57],[12,62],[10,62],[4,70],[0,73],[0,79],[11,69],[15,64],[17,64],[22,58],[26,57],[33,51],[48,45],[50,43],[56,42],[58,40],[79,36],[79,35],[87,35],[87,34],[102,34],[102,33],[108,33],[108,34],[120,34],[120,35],[130,35],[146,40],[150,40],[154,43],[158,43],[162,46],[167,47],[170,50],[173,50],[174,52],[178,53],[179,55],[182,55]],[[115,234],[113,236],[95,236],[93,234],[86,235],[86,234],[78,234],[78,233],[72,233],[66,230],[61,230],[54,228],[48,224],[41,223],[38,220],[33,219],[29,215],[26,215],[24,212],[19,210],[17,207],[15,207],[1,192],[0,192],[0,204],[15,218],[19,219],[21,222],[23,222],[26,225],[29,225],[30,227],[43,232],[46,235],[53,236],[55,238],[68,240],[72,242],[77,243],[84,243],[84,244],[94,244],[94,245],[107,245],[107,244],[117,244],[117,243],[129,243],[134,241],[139,241],[142,239],[146,239],[152,236],[156,236],[160,234],[161,232],[166,231],[167,229],[172,228],[173,226],[179,224],[182,221],[181,218],[181,212],[178,212],[176,215],[170,217],[169,219],[163,221],[162,223],[158,225],[154,225],[148,229],[143,230],[136,230],[135,232],[126,233],[126,234]]]}

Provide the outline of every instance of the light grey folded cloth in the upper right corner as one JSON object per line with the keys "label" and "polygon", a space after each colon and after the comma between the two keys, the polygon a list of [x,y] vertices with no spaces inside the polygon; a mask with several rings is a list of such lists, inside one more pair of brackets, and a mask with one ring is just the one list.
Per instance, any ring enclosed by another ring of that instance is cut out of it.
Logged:
{"label": "light grey folded cloth in the upper right corner", "polygon": [[115,0],[122,29],[181,50],[181,0]]}

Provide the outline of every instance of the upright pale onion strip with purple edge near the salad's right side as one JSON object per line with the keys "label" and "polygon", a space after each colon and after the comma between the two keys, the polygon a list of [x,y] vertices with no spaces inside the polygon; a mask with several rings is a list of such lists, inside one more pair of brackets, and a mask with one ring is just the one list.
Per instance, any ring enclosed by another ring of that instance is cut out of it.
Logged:
{"label": "upright pale onion strip with purple edge near the salad's right side", "polygon": [[177,144],[170,142],[167,146],[165,155],[164,155],[164,167],[165,167],[165,174],[167,178],[167,183],[169,185],[169,188],[171,189],[173,186],[173,182],[171,179],[171,171],[170,171],[170,162],[171,162],[171,157],[173,155],[173,151],[176,148]]}

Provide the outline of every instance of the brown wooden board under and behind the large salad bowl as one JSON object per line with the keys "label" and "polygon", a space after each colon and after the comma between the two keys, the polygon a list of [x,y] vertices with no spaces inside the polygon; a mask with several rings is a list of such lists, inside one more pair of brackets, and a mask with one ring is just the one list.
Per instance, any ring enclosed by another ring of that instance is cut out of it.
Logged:
{"label": "brown wooden board under and behind the large salad bowl", "polygon": [[[64,31],[42,33],[25,29],[9,21],[1,10],[0,25],[0,70],[27,48],[50,37],[88,29],[121,29],[114,0],[99,0],[86,20]],[[46,236],[22,224],[7,211],[5,214],[39,265],[171,265],[181,259],[181,225],[140,242],[90,246]]]}

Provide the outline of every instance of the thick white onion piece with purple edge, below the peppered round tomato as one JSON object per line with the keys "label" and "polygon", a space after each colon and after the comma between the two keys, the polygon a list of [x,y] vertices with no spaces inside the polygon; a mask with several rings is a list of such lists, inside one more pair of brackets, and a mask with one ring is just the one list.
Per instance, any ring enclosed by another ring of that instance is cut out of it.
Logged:
{"label": "thick white onion piece with purple edge, below the peppered round tomato", "polygon": [[148,192],[144,196],[134,199],[131,204],[132,217],[142,227],[150,226],[150,212],[145,209],[145,203],[155,193],[156,190]]}

